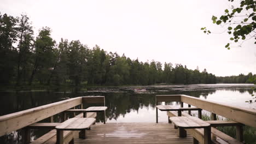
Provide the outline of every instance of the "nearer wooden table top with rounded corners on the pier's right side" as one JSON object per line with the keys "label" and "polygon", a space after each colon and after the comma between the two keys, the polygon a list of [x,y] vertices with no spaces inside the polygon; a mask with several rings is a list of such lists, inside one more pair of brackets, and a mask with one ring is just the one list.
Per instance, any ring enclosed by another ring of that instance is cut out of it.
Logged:
{"label": "nearer wooden table top with rounded corners on the pier's right side", "polygon": [[170,117],[170,120],[177,126],[184,129],[206,128],[210,124],[200,118],[187,116],[187,117]]}

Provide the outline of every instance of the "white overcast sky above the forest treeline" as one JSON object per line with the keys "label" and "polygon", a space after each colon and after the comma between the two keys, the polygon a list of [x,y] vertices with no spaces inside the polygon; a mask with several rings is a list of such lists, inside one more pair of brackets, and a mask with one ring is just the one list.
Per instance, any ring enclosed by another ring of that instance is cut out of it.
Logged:
{"label": "white overcast sky above the forest treeline", "polygon": [[228,34],[206,35],[224,29],[213,25],[212,15],[229,8],[228,0],[201,1],[61,1],[0,0],[1,13],[26,13],[35,32],[43,26],[53,29],[60,41],[80,40],[89,47],[99,45],[131,59],[199,66],[217,76],[256,74],[256,47],[246,41],[242,47],[224,48]]}

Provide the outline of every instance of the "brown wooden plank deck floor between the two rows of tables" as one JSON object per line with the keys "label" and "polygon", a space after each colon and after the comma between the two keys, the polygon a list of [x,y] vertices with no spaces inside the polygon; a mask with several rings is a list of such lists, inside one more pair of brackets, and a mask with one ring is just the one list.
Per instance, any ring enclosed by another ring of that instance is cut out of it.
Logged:
{"label": "brown wooden plank deck floor between the two rows of tables", "polygon": [[193,143],[193,137],[178,137],[171,123],[106,123],[92,125],[86,139],[74,137],[74,143]]}

